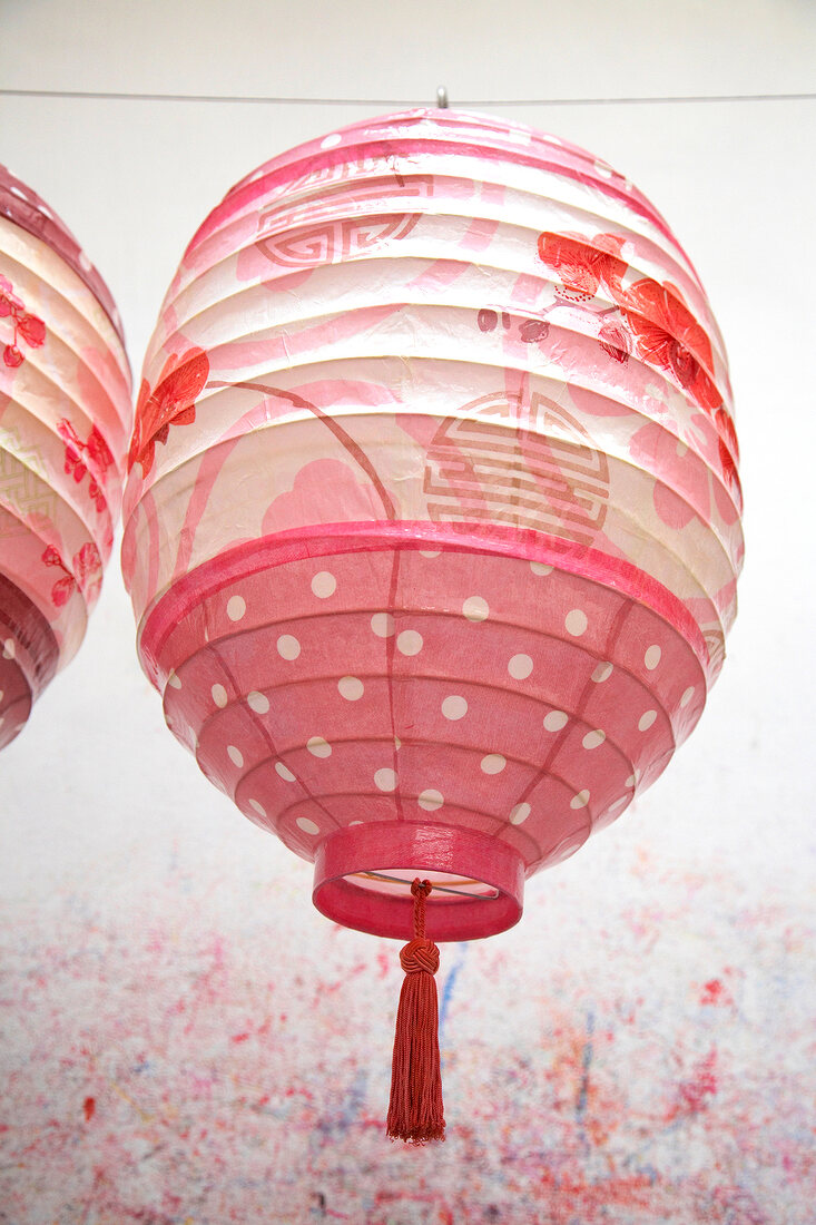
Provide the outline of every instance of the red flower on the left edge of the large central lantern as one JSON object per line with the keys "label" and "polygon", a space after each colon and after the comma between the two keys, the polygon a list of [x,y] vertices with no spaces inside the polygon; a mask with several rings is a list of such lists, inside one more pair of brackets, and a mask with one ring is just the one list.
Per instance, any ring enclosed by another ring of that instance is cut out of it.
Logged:
{"label": "red flower on the left edge of the large central lantern", "polygon": [[203,349],[189,349],[183,358],[172,354],[151,391],[147,380],[136,403],[136,424],[127,456],[127,469],[141,463],[142,477],[153,467],[156,443],[167,442],[172,425],[189,425],[196,419],[196,399],[210,376]]}

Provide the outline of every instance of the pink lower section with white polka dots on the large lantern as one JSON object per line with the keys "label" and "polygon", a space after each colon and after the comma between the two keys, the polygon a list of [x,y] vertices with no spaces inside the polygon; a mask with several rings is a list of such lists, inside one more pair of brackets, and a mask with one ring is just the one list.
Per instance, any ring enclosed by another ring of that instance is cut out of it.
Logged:
{"label": "pink lower section with white polka dots on the large lantern", "polygon": [[[625,806],[633,769],[638,790],[648,785],[673,737],[680,741],[698,717],[700,665],[641,601],[615,593],[604,603],[597,586],[557,566],[542,600],[542,576],[529,565],[451,549],[433,566],[419,550],[402,550],[395,587],[393,559],[371,551],[333,556],[331,566],[304,559],[222,589],[222,610],[232,594],[246,605],[246,660],[229,646],[227,627],[221,641],[203,633],[189,641],[181,624],[174,631],[185,641],[176,657],[185,660],[184,686],[165,688],[176,735],[197,744],[202,767],[244,811],[260,818],[255,800],[270,828],[284,838],[293,831],[299,853],[311,854],[314,844],[298,840],[304,831],[285,813],[306,799],[346,826],[399,812],[474,820],[516,839],[526,862],[540,866]],[[312,590],[322,573],[336,581],[331,597]],[[521,619],[513,605],[511,619],[508,593],[521,582],[529,600]],[[440,590],[442,611],[434,606]],[[484,603],[468,603],[475,599]],[[587,615],[580,636],[567,626],[575,610]],[[207,624],[214,622],[205,614],[195,627]],[[649,669],[652,647],[660,658]],[[173,662],[164,666],[169,674]],[[201,708],[200,679],[210,699]],[[658,718],[660,709],[673,712],[670,720]],[[644,717],[652,722],[643,730]]]}

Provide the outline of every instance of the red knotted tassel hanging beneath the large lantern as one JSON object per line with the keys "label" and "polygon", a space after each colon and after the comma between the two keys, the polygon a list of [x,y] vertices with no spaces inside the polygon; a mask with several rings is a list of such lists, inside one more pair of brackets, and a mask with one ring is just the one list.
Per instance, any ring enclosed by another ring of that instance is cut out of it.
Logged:
{"label": "red knotted tassel hanging beneath the large lantern", "polygon": [[414,938],[399,952],[406,979],[399,993],[393,1039],[391,1102],[387,1133],[392,1140],[424,1144],[445,1139],[445,1106],[439,1063],[439,1006],[434,975],[439,948],[425,938],[425,898],[429,881],[417,878]]}

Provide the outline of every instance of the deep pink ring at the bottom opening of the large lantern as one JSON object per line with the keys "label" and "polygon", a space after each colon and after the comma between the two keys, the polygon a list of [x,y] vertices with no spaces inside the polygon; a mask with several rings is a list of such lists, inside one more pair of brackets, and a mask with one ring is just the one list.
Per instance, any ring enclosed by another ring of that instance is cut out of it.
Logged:
{"label": "deep pink ring at the bottom opening of the large lantern", "polygon": [[410,935],[410,881],[426,875],[434,941],[478,940],[521,919],[524,862],[488,834],[461,826],[369,822],[326,838],[315,856],[312,902],[344,927],[406,940]]}

